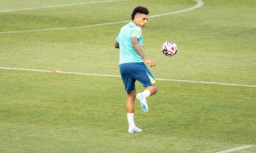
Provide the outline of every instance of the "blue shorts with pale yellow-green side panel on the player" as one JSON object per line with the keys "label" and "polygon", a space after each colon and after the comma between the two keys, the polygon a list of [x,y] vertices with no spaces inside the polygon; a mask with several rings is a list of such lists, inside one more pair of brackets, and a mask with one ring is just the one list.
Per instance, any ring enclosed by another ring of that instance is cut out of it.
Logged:
{"label": "blue shorts with pale yellow-green side panel on the player", "polygon": [[119,65],[125,91],[135,91],[135,82],[138,80],[144,87],[155,84],[156,81],[145,66],[144,62],[129,62]]}

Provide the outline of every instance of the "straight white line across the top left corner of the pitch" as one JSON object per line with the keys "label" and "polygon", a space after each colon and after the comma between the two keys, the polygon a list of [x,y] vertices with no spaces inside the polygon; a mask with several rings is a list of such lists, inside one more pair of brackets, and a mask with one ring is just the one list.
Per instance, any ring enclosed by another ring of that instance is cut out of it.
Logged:
{"label": "straight white line across the top left corner of the pitch", "polygon": [[116,1],[125,1],[125,0],[88,1],[88,2],[82,2],[82,3],[73,3],[73,4],[59,4],[59,5],[51,5],[51,6],[39,6],[39,7],[34,7],[34,8],[19,8],[19,9],[13,9],[13,10],[0,10],[0,13],[10,12],[10,11],[37,10],[37,9],[43,9],[43,8],[57,8],[57,7],[74,6],[74,5],[80,5],[80,4],[111,3],[111,2],[116,2]]}

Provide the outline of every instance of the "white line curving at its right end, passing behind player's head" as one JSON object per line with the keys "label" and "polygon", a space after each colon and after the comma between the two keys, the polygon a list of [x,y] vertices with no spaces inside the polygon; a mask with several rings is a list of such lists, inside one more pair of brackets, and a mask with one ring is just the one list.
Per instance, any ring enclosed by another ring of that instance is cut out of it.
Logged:
{"label": "white line curving at its right end, passing behind player's head", "polygon": [[[173,11],[173,12],[168,12],[168,13],[163,13],[159,15],[151,15],[148,18],[155,18],[155,17],[161,17],[164,15],[172,15],[172,14],[177,14],[177,13],[183,13],[186,11],[191,11],[196,8],[201,7],[204,3],[201,0],[194,0],[197,2],[197,4],[191,8],[187,8],[185,10],[180,10],[180,11]],[[27,32],[36,32],[36,31],[52,31],[52,30],[63,30],[63,29],[80,29],[84,27],[97,27],[97,26],[102,26],[102,25],[111,25],[111,24],[121,24],[125,22],[129,22],[130,20],[123,20],[123,21],[117,21],[117,22],[108,22],[108,23],[102,23],[102,24],[92,24],[92,25],[83,25],[83,26],[77,26],[77,27],[55,27],[55,28],[46,28],[46,29],[34,29],[34,30],[25,30],[25,31],[3,31],[0,32],[0,34],[9,34],[9,33],[27,33]]]}

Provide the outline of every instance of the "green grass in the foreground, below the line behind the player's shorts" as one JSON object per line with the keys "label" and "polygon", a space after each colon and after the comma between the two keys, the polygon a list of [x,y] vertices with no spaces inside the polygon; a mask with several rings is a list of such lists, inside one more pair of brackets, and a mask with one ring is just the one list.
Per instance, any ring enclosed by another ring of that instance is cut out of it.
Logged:
{"label": "green grass in the foreground, below the line behind the player's shorts", "polygon": [[130,135],[118,78],[2,72],[2,152],[213,152],[255,143],[248,87],[158,82],[149,113],[136,103],[143,133]]}

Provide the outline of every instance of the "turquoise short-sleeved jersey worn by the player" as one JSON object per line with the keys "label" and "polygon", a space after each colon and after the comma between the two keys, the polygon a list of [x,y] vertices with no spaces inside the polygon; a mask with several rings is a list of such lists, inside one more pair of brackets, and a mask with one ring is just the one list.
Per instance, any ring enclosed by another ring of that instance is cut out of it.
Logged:
{"label": "turquoise short-sleeved jersey worn by the player", "polygon": [[143,62],[140,55],[138,55],[134,48],[132,48],[132,37],[139,39],[139,45],[141,47],[143,43],[141,27],[135,25],[133,22],[129,22],[129,24],[122,27],[116,38],[116,42],[119,43],[120,48],[119,64],[128,62]]}

